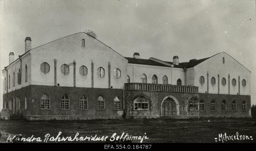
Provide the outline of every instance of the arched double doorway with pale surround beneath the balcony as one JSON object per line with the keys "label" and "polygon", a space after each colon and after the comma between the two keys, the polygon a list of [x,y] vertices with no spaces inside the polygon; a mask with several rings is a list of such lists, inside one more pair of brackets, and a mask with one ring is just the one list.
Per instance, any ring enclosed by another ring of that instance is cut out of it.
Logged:
{"label": "arched double doorway with pale surround beneath the balcony", "polygon": [[177,116],[180,115],[180,105],[175,97],[164,97],[161,104],[161,116]]}

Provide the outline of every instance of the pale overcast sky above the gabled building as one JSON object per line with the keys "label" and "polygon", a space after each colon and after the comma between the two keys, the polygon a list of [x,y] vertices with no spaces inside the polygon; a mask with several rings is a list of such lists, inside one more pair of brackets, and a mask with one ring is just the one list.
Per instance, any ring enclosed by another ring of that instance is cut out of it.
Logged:
{"label": "pale overcast sky above the gabled building", "polygon": [[[180,62],[226,52],[248,68],[251,101],[256,104],[256,12],[254,0],[1,0],[1,70],[32,48],[59,38],[94,31],[100,41],[122,54]],[[2,81],[1,74],[1,101]],[[2,108],[2,102],[0,109]]]}

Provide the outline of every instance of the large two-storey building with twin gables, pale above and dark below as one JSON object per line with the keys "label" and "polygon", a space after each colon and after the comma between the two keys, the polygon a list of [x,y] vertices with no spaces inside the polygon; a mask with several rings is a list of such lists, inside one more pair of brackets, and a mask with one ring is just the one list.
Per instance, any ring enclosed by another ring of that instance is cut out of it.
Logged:
{"label": "large two-storey building with twin gables, pale above and dark below", "polygon": [[7,119],[251,117],[251,72],[224,52],[180,63],[123,57],[84,32],[31,41],[2,70]]}

